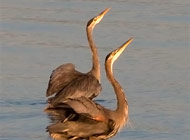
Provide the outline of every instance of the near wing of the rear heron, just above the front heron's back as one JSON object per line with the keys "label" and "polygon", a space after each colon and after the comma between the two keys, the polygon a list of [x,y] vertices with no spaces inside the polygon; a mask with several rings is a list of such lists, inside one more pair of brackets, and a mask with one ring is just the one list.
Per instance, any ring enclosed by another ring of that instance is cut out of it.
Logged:
{"label": "near wing of the rear heron, just above the front heron's back", "polygon": [[102,90],[101,84],[93,75],[81,74],[72,80],[63,90],[49,100],[52,105],[59,104],[66,99],[79,97],[94,98]]}

